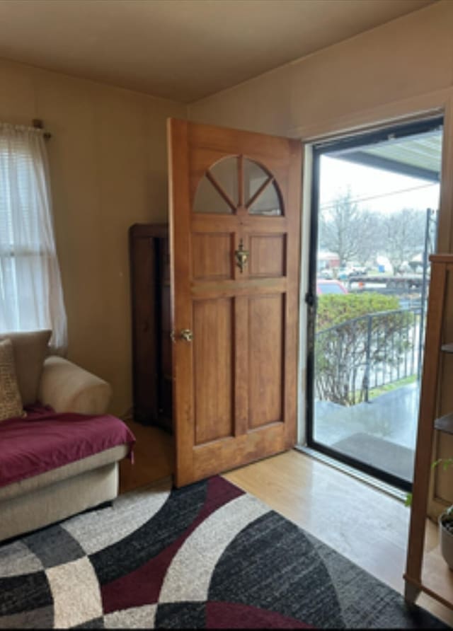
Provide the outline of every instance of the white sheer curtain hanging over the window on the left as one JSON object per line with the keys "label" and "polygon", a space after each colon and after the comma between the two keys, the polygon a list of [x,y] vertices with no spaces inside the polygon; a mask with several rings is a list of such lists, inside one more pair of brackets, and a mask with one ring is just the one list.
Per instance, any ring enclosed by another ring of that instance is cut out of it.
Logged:
{"label": "white sheer curtain hanging over the window on the left", "polygon": [[0,123],[0,332],[52,329],[64,353],[67,320],[42,131]]}

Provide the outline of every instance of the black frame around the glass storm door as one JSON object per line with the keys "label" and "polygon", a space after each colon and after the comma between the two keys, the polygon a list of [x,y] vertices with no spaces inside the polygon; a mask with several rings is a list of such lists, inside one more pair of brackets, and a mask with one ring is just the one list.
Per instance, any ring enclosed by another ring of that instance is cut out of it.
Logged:
{"label": "black frame around the glass storm door", "polygon": [[[366,129],[355,129],[353,132],[347,134],[335,134],[333,137],[325,137],[319,140],[312,140],[306,147],[311,150],[311,180],[309,183],[309,250],[302,261],[302,265],[308,266],[308,279],[306,282],[306,291],[302,290],[301,285],[301,307],[306,306],[305,330],[303,333],[306,335],[306,354],[305,366],[305,393],[304,393],[304,431],[306,447],[310,451],[319,452],[322,456],[327,456],[329,460],[338,461],[339,465],[346,465],[348,468],[353,468],[359,473],[365,473],[376,480],[380,480],[392,487],[398,487],[405,491],[410,491],[412,484],[406,480],[402,480],[390,473],[384,472],[372,465],[363,463],[362,461],[352,458],[351,456],[345,456],[331,447],[323,445],[314,439],[314,335],[315,335],[315,311],[314,303],[316,301],[316,268],[317,268],[317,243],[318,243],[318,224],[319,224],[319,174],[320,174],[320,158],[323,154],[328,153],[328,149],[335,147],[336,149],[346,149],[361,144],[372,144],[373,142],[383,140],[389,134],[395,132],[401,132],[402,130],[406,135],[413,135],[423,131],[427,131],[430,127],[435,125],[442,125],[442,134],[445,138],[445,112],[436,110],[435,112],[425,112],[418,117],[411,117],[410,120],[393,120],[390,122],[379,124],[374,127],[367,127]],[[444,152],[445,142],[442,141],[442,173],[441,173],[441,192],[440,192],[440,208],[437,222],[437,233],[439,232],[440,225],[440,209],[442,199],[442,180],[444,178]],[[306,158],[306,156],[305,156]],[[306,162],[306,160],[305,160]],[[306,165],[305,165],[306,166]],[[302,246],[302,242],[301,242]],[[303,257],[302,257],[303,258]],[[302,277],[301,277],[302,283]],[[302,319],[302,308],[301,308]],[[302,363],[300,364],[302,366]],[[301,371],[299,370],[299,375]],[[302,378],[300,383],[302,383]],[[299,415],[299,427],[300,427],[300,415]],[[300,432],[299,432],[300,438]]]}

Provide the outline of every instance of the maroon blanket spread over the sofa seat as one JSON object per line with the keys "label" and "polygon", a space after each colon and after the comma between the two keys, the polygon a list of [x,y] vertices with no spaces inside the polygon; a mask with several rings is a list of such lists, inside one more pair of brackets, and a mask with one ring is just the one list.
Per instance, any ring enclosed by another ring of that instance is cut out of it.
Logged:
{"label": "maroon blanket spread over the sofa seat", "polygon": [[116,417],[33,407],[25,418],[0,422],[0,487],[128,444],[135,436]]}

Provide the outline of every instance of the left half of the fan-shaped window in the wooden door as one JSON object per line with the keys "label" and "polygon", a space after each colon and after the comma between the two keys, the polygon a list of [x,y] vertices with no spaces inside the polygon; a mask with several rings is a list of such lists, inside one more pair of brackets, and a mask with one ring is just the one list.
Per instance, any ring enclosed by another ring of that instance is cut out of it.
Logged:
{"label": "left half of the fan-shaped window in the wooden door", "polygon": [[238,205],[237,158],[224,158],[203,175],[195,193],[194,212],[231,214]]}

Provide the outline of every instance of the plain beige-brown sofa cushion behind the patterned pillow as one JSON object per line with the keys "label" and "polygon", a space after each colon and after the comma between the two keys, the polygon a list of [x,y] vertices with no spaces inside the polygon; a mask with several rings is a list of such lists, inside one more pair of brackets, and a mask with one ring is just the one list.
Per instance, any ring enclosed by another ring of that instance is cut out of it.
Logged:
{"label": "plain beige-brown sofa cushion behind the patterned pillow", "polygon": [[38,387],[50,334],[49,330],[0,334],[0,341],[8,338],[13,344],[16,376],[23,405],[36,403],[38,399]]}

